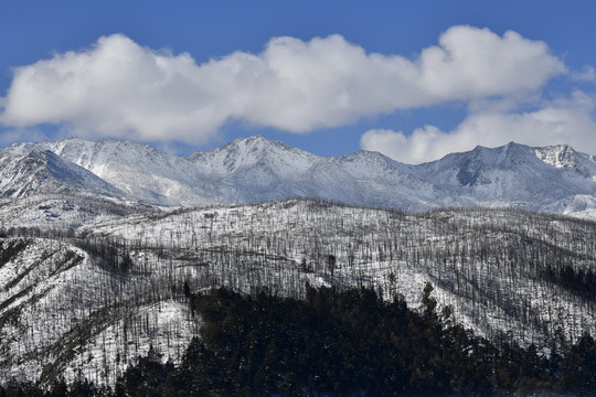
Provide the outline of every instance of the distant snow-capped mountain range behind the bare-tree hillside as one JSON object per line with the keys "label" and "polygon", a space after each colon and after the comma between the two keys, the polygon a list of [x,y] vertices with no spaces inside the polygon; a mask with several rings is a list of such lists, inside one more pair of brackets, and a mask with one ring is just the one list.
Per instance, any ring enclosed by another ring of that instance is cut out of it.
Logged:
{"label": "distant snow-capped mountain range behind the bare-tree hillside", "polygon": [[[260,136],[188,158],[117,140],[15,143],[0,151],[4,159],[35,152],[52,152],[63,168],[78,165],[96,176],[78,173],[76,182],[71,181],[77,189],[160,206],[300,196],[409,211],[505,206],[596,217],[595,158],[568,146],[477,147],[419,165],[369,151],[318,157]],[[2,183],[10,182],[3,196],[44,192],[41,186],[47,182],[41,182],[39,172],[13,160],[0,162],[0,168],[8,175]]]}

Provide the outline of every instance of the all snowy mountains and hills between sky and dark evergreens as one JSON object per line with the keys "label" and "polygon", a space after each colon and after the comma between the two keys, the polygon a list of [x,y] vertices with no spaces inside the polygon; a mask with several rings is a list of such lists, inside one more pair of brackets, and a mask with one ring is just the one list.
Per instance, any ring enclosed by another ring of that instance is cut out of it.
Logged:
{"label": "all snowy mountains and hills between sky and dark evergreens", "polygon": [[568,146],[419,165],[263,137],[188,158],[116,140],[6,147],[0,385],[115,385],[151,347],[180,363],[201,335],[190,293],[216,287],[369,287],[422,313],[430,283],[446,323],[565,352],[596,334],[596,223],[557,214],[596,218],[595,178]]}

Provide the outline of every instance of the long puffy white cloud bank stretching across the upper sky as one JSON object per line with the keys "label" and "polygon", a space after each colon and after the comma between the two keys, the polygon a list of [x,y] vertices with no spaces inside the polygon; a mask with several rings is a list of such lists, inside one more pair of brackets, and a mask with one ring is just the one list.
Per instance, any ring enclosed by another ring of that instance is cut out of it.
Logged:
{"label": "long puffy white cloud bank stretching across the upper sky", "polygon": [[[259,54],[235,52],[201,64],[115,34],[15,68],[0,122],[200,143],[227,120],[309,132],[396,109],[525,96],[564,72],[542,42],[471,26],[450,28],[438,45],[412,58],[366,53],[331,35],[275,37]],[[416,133],[440,137],[433,129]],[[380,139],[402,138],[376,131],[363,142]]]}

